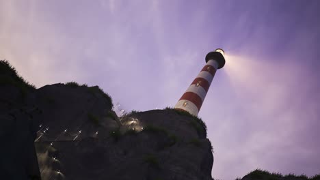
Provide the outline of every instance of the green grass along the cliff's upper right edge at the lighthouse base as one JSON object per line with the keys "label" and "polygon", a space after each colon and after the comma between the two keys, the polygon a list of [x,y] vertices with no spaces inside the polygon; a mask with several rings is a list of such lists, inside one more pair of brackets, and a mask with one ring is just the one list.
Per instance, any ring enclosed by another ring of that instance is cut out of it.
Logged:
{"label": "green grass along the cliff's upper right edge at the lighthouse base", "polygon": [[176,112],[178,115],[191,117],[192,120],[190,121],[190,125],[192,125],[197,130],[197,132],[204,132],[206,136],[206,123],[204,123],[204,121],[202,121],[200,117],[191,115],[189,112],[185,110],[178,110],[170,107],[166,107],[165,110],[172,110]]}

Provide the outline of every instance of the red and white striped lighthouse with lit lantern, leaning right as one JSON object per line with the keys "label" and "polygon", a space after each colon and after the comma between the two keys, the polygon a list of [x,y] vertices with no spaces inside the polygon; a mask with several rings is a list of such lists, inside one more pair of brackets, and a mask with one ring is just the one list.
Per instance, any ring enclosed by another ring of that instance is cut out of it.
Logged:
{"label": "red and white striped lighthouse with lit lantern, leaning right", "polygon": [[215,72],[224,67],[226,60],[224,59],[224,50],[218,48],[206,55],[206,65],[191,83],[187,91],[178,100],[175,109],[185,110],[191,115],[198,115],[198,112],[209,90]]}

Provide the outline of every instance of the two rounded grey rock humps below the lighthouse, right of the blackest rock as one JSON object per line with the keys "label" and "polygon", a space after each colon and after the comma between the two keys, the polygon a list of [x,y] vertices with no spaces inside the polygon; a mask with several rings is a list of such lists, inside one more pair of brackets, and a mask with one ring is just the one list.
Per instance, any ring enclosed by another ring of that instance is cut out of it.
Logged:
{"label": "two rounded grey rock humps below the lighthouse, right of the blackest rock", "polygon": [[103,97],[87,90],[39,89],[40,99],[52,99],[39,102],[42,179],[211,179],[211,143],[193,117],[150,110],[118,119]]}

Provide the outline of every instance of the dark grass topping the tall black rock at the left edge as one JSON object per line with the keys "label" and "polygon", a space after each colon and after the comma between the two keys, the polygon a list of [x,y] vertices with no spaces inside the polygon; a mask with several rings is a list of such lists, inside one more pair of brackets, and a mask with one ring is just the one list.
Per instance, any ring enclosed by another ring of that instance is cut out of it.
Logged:
{"label": "dark grass topping the tall black rock at the left edge", "polygon": [[16,69],[6,60],[0,60],[0,77],[0,85],[10,84],[20,89],[36,89],[34,85],[18,75]]}

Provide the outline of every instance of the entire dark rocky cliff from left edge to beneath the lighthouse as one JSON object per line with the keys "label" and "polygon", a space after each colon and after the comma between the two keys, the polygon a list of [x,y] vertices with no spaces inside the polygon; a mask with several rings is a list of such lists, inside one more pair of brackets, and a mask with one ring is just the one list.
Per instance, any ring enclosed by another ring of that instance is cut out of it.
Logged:
{"label": "entire dark rocky cliff from left edge to beneath the lighthouse", "polygon": [[166,109],[119,119],[98,87],[35,89],[1,65],[1,179],[211,179],[196,117]]}

